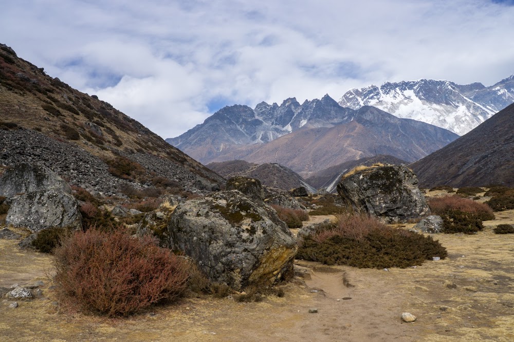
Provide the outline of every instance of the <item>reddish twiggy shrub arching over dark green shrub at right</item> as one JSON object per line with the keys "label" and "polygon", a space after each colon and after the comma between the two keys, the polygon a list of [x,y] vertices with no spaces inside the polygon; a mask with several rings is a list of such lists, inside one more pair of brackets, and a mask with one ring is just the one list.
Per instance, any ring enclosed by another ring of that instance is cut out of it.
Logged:
{"label": "reddish twiggy shrub arching over dark green shrub at right", "polygon": [[494,213],[486,204],[460,196],[433,197],[428,200],[428,205],[433,215],[442,216],[448,210],[458,210],[472,213],[483,221],[494,219]]}

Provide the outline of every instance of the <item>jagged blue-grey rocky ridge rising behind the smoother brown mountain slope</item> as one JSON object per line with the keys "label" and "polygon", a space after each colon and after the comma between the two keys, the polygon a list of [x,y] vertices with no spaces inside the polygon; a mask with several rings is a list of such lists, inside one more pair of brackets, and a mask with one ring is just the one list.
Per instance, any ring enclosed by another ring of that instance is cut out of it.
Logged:
{"label": "jagged blue-grey rocky ridge rising behind the smoother brown mountain slope", "polygon": [[321,100],[306,100],[302,105],[296,98],[288,98],[280,106],[265,102],[255,109],[227,106],[208,117],[203,124],[166,141],[207,164],[227,151],[265,144],[301,128],[333,127],[350,122],[354,114],[354,110],[341,108],[328,95]]}

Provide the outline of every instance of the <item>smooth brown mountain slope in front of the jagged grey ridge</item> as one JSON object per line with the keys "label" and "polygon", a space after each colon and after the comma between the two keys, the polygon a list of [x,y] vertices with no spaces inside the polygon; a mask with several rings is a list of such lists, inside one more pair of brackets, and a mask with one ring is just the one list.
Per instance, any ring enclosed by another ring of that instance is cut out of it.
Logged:
{"label": "smooth brown mountain slope in front of the jagged grey ridge", "polygon": [[280,163],[307,178],[328,167],[376,154],[414,162],[457,137],[439,127],[363,107],[355,111],[351,122],[329,128],[305,127],[267,144],[226,150],[213,161],[244,159],[257,164]]}

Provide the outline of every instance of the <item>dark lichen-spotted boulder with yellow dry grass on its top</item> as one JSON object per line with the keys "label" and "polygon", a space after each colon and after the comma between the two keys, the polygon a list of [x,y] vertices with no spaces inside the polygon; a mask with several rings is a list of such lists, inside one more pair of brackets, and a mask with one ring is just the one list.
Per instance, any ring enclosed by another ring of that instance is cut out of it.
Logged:
{"label": "dark lichen-spotted boulder with yellow dry grass on its top", "polygon": [[406,167],[388,165],[343,177],[337,192],[355,211],[383,222],[406,222],[430,214],[416,175]]}

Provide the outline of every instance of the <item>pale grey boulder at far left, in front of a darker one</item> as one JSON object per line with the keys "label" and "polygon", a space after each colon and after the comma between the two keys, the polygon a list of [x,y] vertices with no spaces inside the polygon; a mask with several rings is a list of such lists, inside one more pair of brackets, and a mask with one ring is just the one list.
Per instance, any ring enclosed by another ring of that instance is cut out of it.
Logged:
{"label": "pale grey boulder at far left, in front of a darker one", "polygon": [[43,190],[17,197],[7,212],[6,223],[32,232],[50,227],[81,228],[77,200],[67,192]]}

